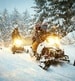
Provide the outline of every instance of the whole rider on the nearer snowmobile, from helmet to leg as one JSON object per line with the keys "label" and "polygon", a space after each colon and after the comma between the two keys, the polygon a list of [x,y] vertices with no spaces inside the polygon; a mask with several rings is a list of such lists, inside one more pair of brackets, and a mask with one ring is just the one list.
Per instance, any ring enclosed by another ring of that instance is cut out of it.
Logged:
{"label": "whole rider on the nearer snowmobile, from helmet to leg", "polygon": [[36,54],[37,47],[39,43],[43,42],[45,40],[44,36],[47,33],[47,24],[41,24],[37,23],[35,25],[34,35],[32,37],[33,43],[32,43],[32,50],[34,52],[34,55]]}

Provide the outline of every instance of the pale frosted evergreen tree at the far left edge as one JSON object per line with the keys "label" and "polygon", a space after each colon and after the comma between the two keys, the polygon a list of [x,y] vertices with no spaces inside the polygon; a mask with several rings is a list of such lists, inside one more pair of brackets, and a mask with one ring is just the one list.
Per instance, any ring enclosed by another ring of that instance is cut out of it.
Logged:
{"label": "pale frosted evergreen tree at the far left edge", "polygon": [[9,14],[7,9],[4,9],[0,17],[0,27],[1,27],[1,38],[6,41],[9,38]]}

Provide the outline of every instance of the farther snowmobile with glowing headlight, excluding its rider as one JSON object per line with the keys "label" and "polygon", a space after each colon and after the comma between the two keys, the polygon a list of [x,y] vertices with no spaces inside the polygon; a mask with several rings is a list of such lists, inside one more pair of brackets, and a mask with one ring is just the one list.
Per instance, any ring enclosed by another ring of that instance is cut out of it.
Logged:
{"label": "farther snowmobile with glowing headlight, excluding its rider", "polygon": [[21,39],[15,39],[12,45],[12,52],[15,53],[21,53],[24,51],[24,47],[22,45],[23,41]]}

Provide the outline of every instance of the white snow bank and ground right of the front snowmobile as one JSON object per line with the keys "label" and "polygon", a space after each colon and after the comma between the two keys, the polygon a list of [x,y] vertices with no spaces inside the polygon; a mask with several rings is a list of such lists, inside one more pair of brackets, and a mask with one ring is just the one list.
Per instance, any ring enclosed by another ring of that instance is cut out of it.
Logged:
{"label": "white snow bank and ground right of the front snowmobile", "polygon": [[69,55],[71,63],[73,64],[75,60],[75,31],[70,32],[63,37],[61,43],[65,53]]}

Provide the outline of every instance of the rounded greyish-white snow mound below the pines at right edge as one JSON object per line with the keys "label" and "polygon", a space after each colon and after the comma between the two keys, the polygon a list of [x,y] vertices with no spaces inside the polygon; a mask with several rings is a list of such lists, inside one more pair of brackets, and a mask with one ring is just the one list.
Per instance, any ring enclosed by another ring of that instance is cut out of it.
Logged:
{"label": "rounded greyish-white snow mound below the pines at right edge", "polygon": [[62,44],[74,44],[75,43],[75,31],[68,33],[61,39]]}

